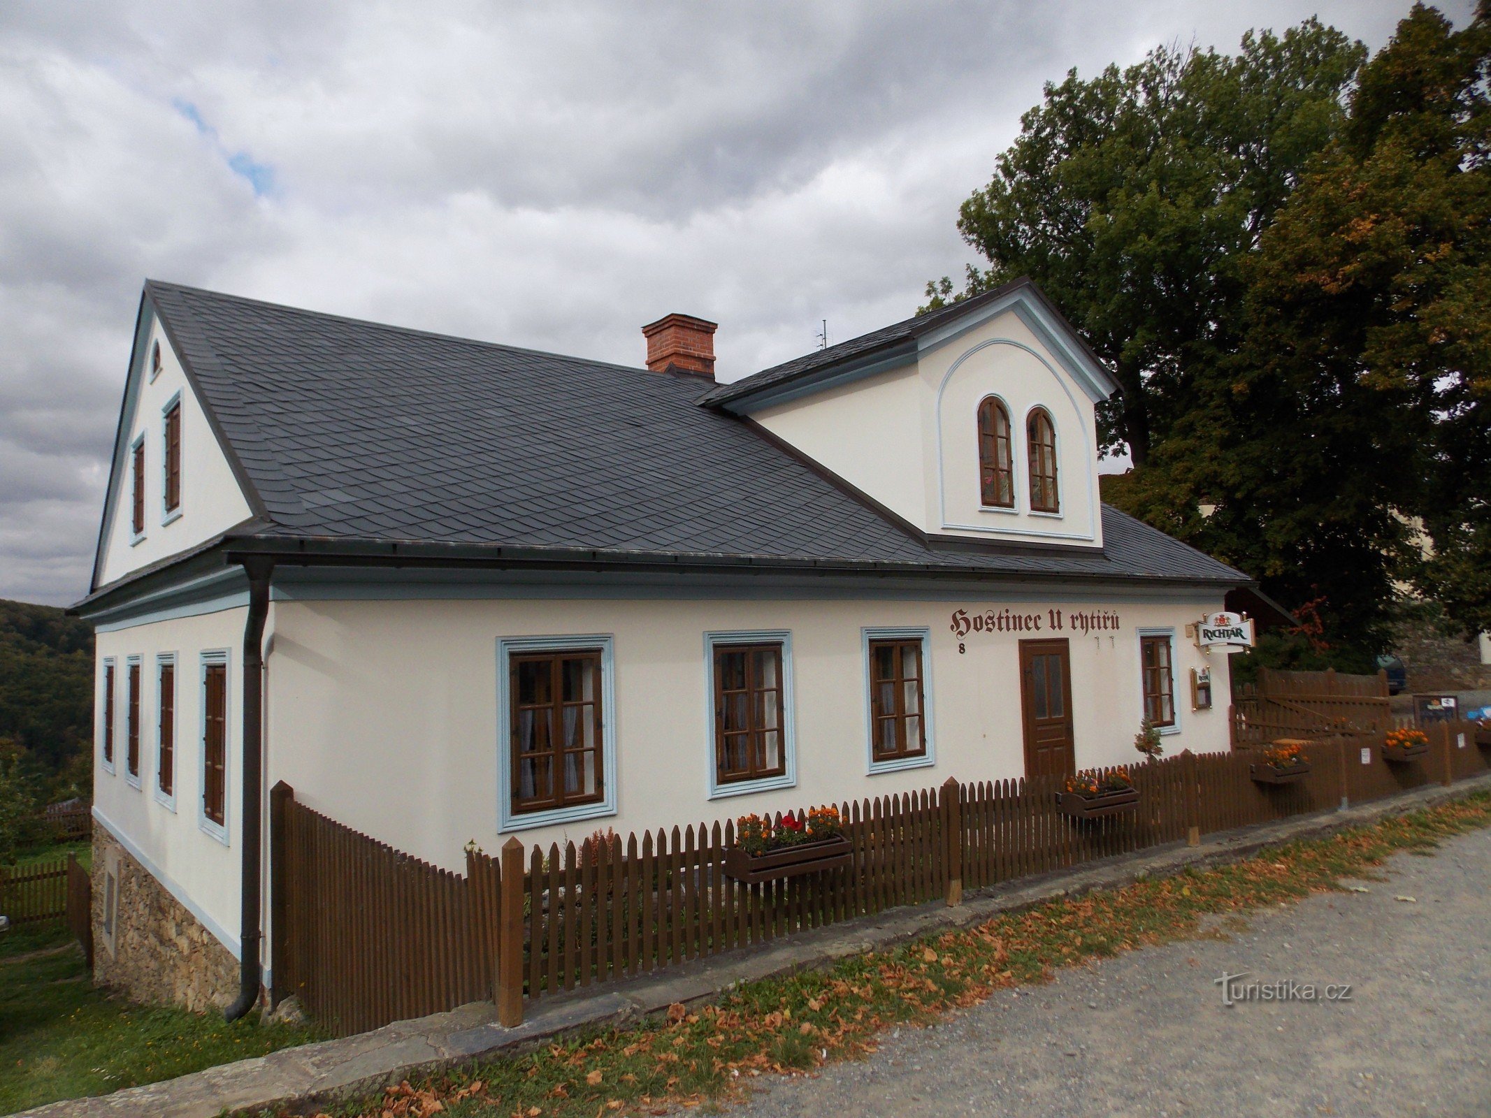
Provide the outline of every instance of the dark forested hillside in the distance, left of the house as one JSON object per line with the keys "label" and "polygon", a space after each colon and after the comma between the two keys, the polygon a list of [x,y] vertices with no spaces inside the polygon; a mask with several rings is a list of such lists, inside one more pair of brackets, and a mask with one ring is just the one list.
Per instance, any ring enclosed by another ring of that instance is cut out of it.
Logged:
{"label": "dark forested hillside in the distance, left of the house", "polygon": [[52,605],[0,598],[0,739],[42,774],[83,781],[92,756],[92,629]]}

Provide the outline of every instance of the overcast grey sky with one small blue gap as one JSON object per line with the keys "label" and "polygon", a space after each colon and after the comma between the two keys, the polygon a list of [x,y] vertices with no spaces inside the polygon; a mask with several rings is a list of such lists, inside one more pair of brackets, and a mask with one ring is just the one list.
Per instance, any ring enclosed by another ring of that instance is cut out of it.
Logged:
{"label": "overcast grey sky with one small blue gap", "polygon": [[[1469,0],[1446,12],[1460,24]],[[1041,83],[1385,0],[0,4],[0,598],[86,592],[140,283],[722,379],[915,310]]]}

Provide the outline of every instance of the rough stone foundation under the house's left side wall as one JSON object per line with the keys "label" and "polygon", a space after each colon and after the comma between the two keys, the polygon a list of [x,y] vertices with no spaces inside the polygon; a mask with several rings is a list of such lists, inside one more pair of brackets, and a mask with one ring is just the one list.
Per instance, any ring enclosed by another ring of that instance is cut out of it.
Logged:
{"label": "rough stone foundation under the house's left side wall", "polygon": [[[119,888],[112,951],[104,932],[110,868]],[[103,826],[94,827],[92,921],[94,982],[134,1002],[194,1012],[237,997],[239,960]]]}

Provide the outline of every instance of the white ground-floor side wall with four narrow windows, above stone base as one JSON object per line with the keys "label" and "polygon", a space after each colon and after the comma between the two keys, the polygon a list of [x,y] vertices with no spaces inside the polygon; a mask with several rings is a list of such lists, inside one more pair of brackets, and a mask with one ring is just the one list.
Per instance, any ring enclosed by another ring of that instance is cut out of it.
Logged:
{"label": "white ground-floor side wall with four narrow windows, above stone base", "polygon": [[[197,617],[180,617],[97,635],[94,671],[94,814],[130,853],[195,915],[224,945],[239,953],[239,865],[242,830],[242,726],[243,726],[243,625],[246,610],[230,608]],[[228,780],[227,842],[201,826],[201,653],[225,651],[228,657]],[[176,777],[174,806],[157,795],[157,656],[176,654]],[[125,663],[139,656],[140,686],[140,781],[125,775]],[[113,772],[103,765],[104,660],[113,657],[115,739]]]}

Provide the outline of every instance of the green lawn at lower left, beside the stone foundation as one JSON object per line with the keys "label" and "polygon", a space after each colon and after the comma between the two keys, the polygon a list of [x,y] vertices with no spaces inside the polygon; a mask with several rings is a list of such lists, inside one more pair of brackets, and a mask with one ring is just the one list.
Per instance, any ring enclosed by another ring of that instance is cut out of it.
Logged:
{"label": "green lawn at lower left, beside the stone foundation", "polygon": [[0,1114],[106,1094],[321,1039],[304,1027],[225,1024],[94,988],[61,921],[0,935]]}

